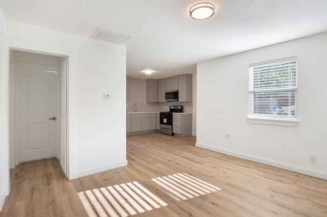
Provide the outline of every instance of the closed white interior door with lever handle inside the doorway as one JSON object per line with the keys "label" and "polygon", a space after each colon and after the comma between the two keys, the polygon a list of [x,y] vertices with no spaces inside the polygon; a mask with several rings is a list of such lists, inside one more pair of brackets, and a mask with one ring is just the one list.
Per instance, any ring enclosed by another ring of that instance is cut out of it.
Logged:
{"label": "closed white interior door with lever handle inside the doorway", "polygon": [[22,64],[16,69],[19,162],[55,157],[60,133],[59,68]]}

